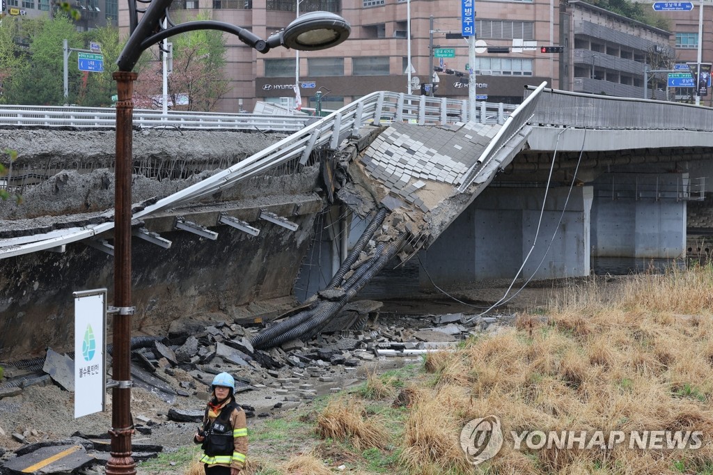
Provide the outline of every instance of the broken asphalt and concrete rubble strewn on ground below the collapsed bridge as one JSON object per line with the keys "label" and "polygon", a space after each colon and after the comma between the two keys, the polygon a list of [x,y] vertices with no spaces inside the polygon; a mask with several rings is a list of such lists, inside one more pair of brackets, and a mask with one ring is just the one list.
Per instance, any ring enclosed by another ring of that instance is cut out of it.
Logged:
{"label": "broken asphalt and concrete rubble strewn on ground below the collapsed bridge", "polygon": [[[448,349],[471,334],[497,332],[501,323],[507,325],[512,320],[508,316],[471,317],[459,313],[379,325],[379,314],[374,312],[379,307],[381,302],[350,302],[342,317],[356,321],[359,330],[323,333],[309,342],[293,339],[266,350],[250,344],[262,325],[246,324],[244,320],[239,320],[242,325],[220,321],[207,326],[205,322],[176,320],[165,338],[140,337],[140,347],[132,350],[133,385],[155,394],[170,408],[156,414],[142,414],[141,409],[133,409],[137,431],[134,459],[155,457],[163,449],[151,443],[156,427],[200,422],[210,383],[217,373],[230,372],[235,377],[237,399],[248,418],[270,417],[319,395],[353,386],[365,377],[366,372],[359,371],[363,365],[388,359],[394,362],[394,357],[403,357],[404,362],[418,361],[408,358]],[[359,315],[358,309],[368,309],[369,319],[354,318]],[[111,363],[111,357],[107,359]],[[35,384],[54,383],[73,391],[73,360],[70,355],[48,349],[44,359],[7,364],[6,377],[0,383],[0,400],[6,398],[2,402],[21,396]],[[179,399],[182,404],[176,404]],[[0,434],[6,431],[24,445],[15,451],[0,449],[3,475],[25,473],[23,467],[34,459],[60,452],[70,454],[62,459],[69,461],[58,464],[56,469],[46,466],[42,473],[92,473],[91,466],[108,461],[111,441],[106,433],[75,432],[66,439],[52,441],[48,434],[29,425],[0,427]]]}

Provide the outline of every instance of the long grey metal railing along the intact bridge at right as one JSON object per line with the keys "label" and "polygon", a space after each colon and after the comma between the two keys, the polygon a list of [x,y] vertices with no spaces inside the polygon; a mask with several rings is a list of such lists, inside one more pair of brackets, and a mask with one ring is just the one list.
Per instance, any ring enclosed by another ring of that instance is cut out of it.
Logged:
{"label": "long grey metal railing along the intact bridge at right", "polygon": [[[525,89],[525,96],[534,92]],[[530,123],[606,129],[713,131],[713,109],[691,104],[598,96],[546,88]]]}

